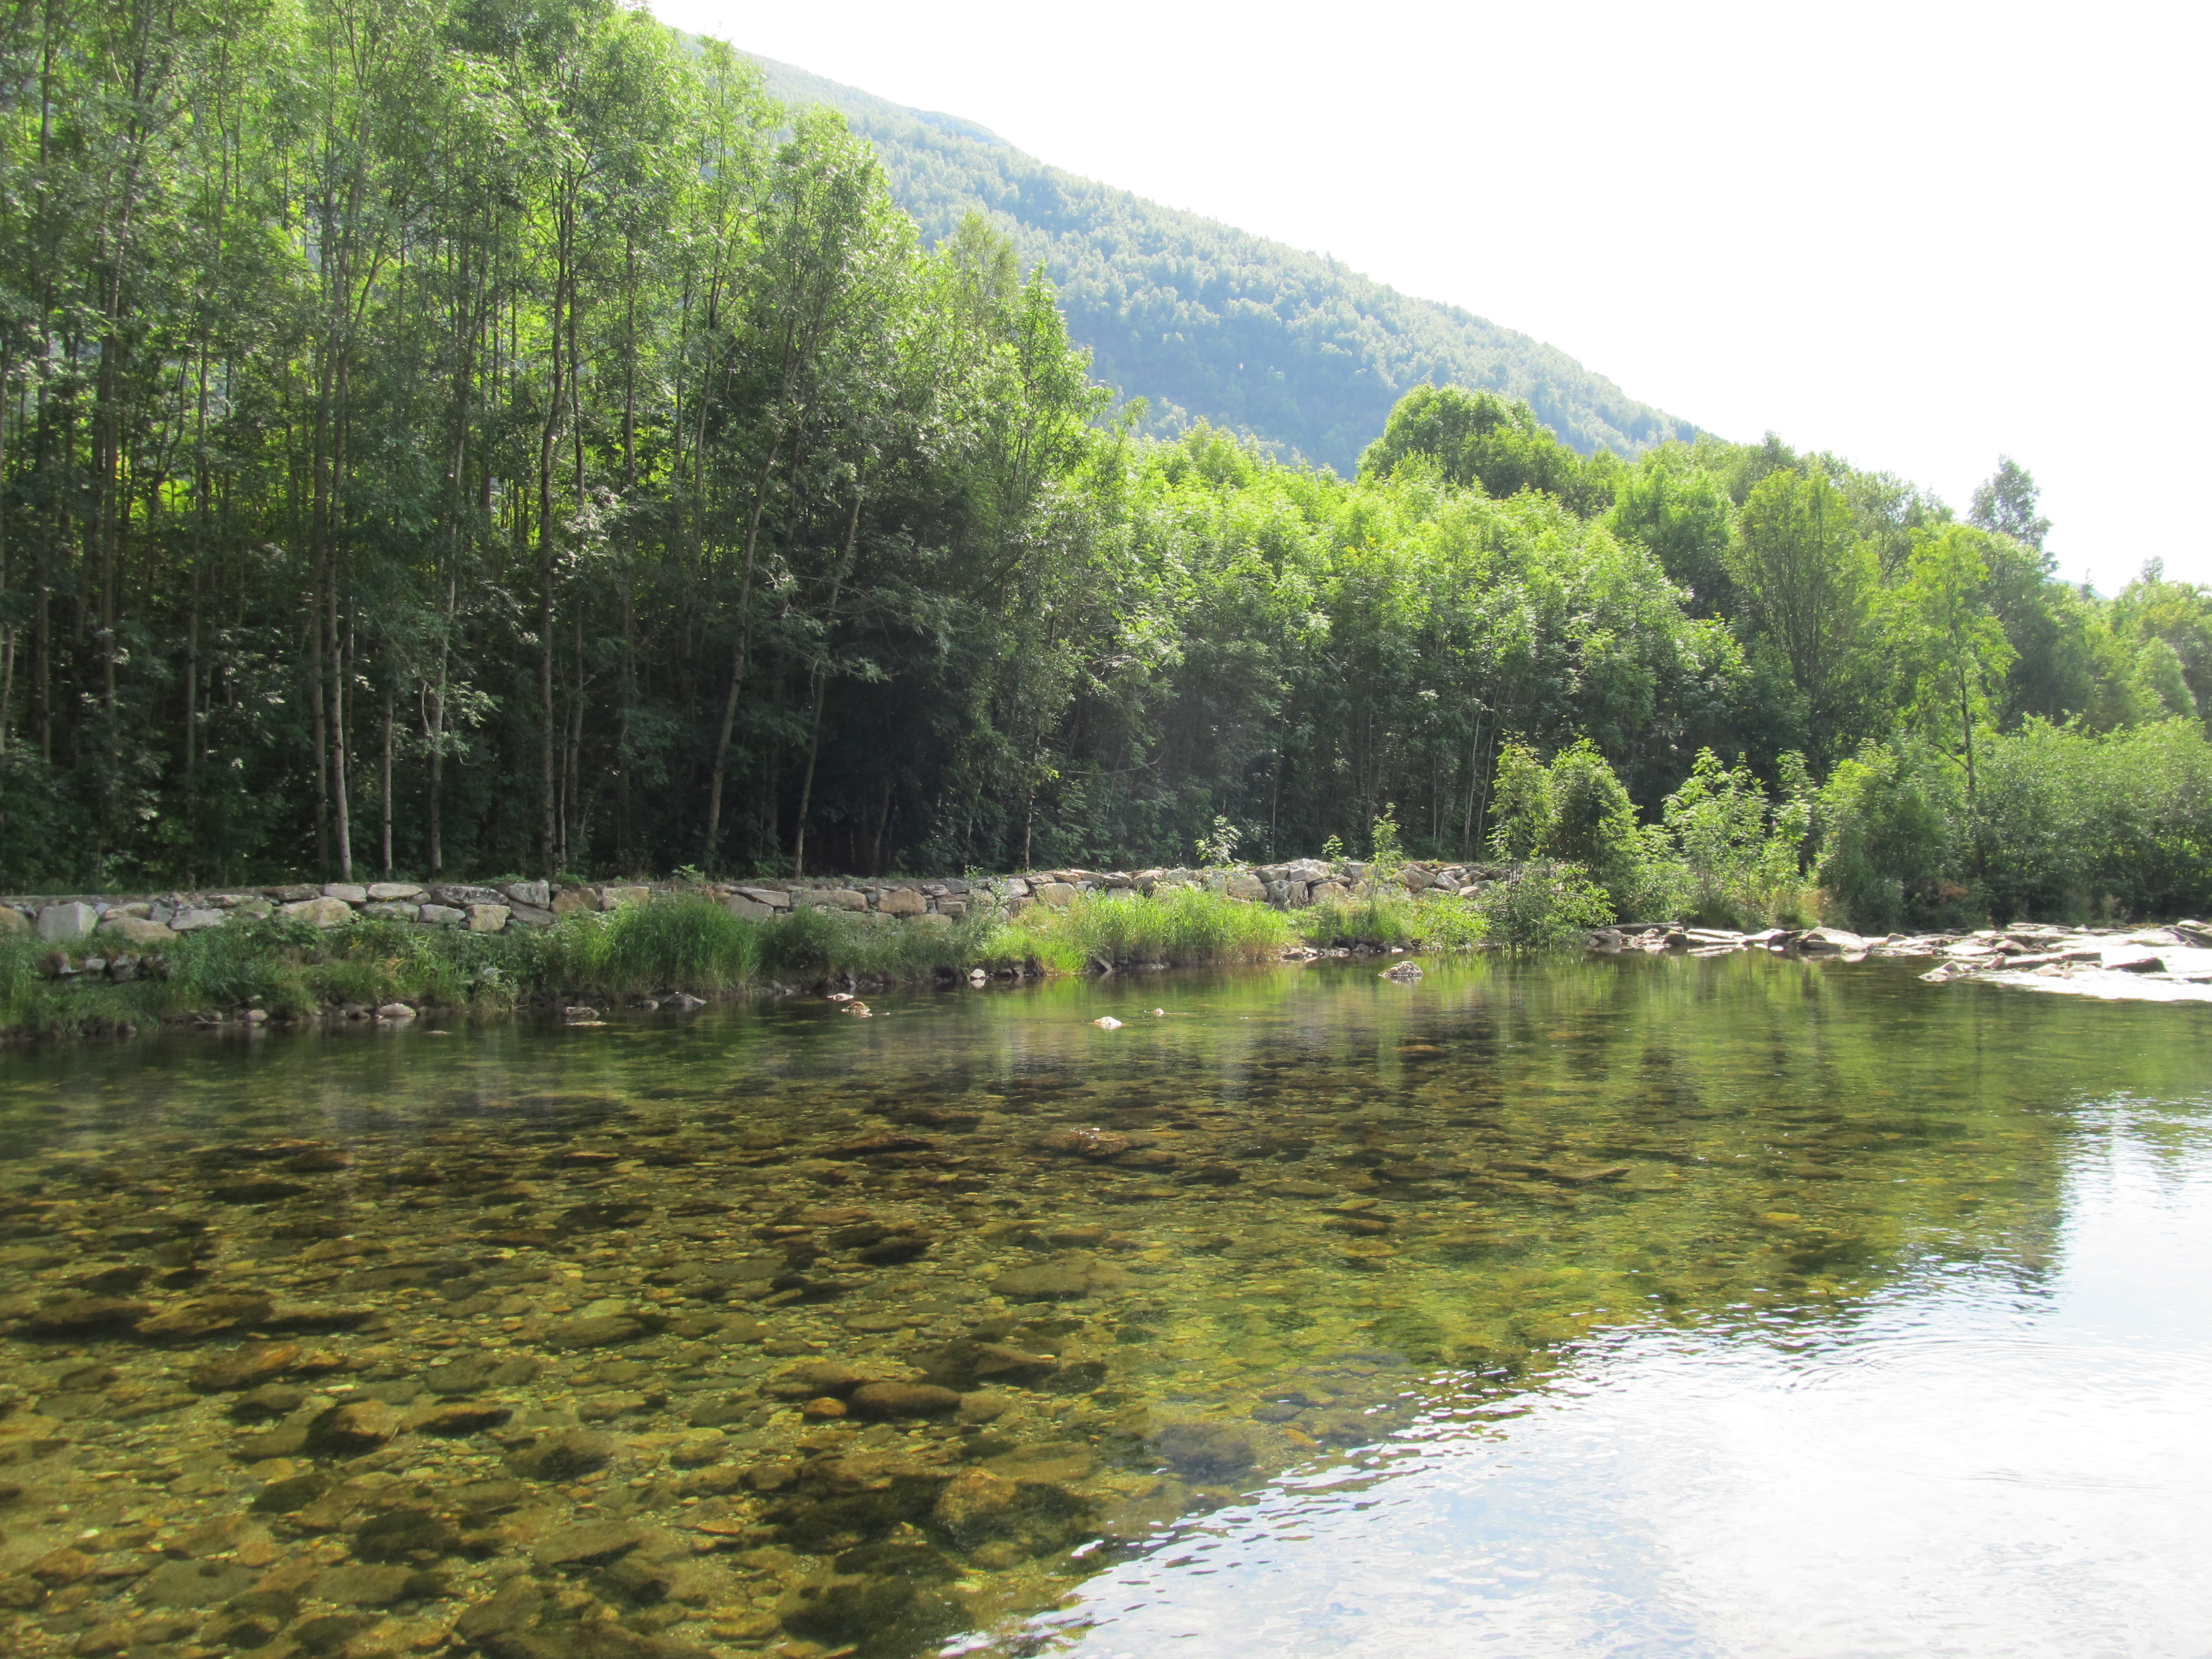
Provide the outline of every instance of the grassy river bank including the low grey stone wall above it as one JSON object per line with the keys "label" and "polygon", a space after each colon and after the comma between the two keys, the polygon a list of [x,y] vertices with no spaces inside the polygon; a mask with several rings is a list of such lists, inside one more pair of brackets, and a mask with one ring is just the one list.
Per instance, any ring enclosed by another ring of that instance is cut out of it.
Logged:
{"label": "grassy river bank including the low grey stone wall above it", "polygon": [[[411,883],[0,900],[0,1037],[392,1020],[1475,945],[1455,865],[849,885]],[[577,1015],[586,1018],[586,1015]]]}

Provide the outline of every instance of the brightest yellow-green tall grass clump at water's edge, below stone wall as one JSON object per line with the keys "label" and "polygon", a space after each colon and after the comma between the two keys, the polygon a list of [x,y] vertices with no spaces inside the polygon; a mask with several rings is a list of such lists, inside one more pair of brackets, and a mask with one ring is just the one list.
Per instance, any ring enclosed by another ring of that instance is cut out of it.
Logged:
{"label": "brightest yellow-green tall grass clump at water's edge, below stone wall", "polygon": [[1265,962],[1290,945],[1296,933],[1283,911],[1203,887],[1168,887],[1152,898],[1077,894],[1060,909],[1031,905],[991,940],[995,953],[1053,973],[1135,962]]}

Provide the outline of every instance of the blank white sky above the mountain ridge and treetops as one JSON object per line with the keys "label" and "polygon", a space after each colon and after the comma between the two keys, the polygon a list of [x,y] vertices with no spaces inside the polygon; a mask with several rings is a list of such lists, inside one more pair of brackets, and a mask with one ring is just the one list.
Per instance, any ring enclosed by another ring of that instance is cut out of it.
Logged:
{"label": "blank white sky above the mountain ridge and treetops", "polygon": [[1535,334],[2059,573],[2212,582],[2212,27],[2181,4],[790,4],[664,20]]}

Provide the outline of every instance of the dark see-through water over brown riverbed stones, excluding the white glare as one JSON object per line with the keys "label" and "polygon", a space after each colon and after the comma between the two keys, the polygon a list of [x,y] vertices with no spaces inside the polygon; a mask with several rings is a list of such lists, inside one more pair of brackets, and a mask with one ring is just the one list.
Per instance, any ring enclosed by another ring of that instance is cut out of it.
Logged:
{"label": "dark see-through water over brown riverbed stones, excluding the white glare", "polygon": [[[2048,1296],[2086,1106],[2201,1102],[2208,1033],[1475,958],[4,1055],[0,1619],[1082,1641],[1192,1517],[1495,1433],[1606,1345]],[[2185,1161],[2194,1119],[2130,1133]]]}

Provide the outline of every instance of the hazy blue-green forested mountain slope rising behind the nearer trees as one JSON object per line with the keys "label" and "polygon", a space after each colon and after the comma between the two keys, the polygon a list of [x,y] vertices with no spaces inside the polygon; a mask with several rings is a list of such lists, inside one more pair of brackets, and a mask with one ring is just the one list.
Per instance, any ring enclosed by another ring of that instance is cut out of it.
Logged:
{"label": "hazy blue-green forested mountain slope rising behind the nearer trees", "polygon": [[1635,453],[1694,427],[1564,352],[1334,259],[1046,166],[953,115],[905,108],[754,58],[785,104],[827,104],[874,142],[931,241],[969,210],[1060,283],[1093,374],[1152,400],[1155,427],[1239,427],[1349,473],[1422,380],[1524,398],[1575,449]]}

